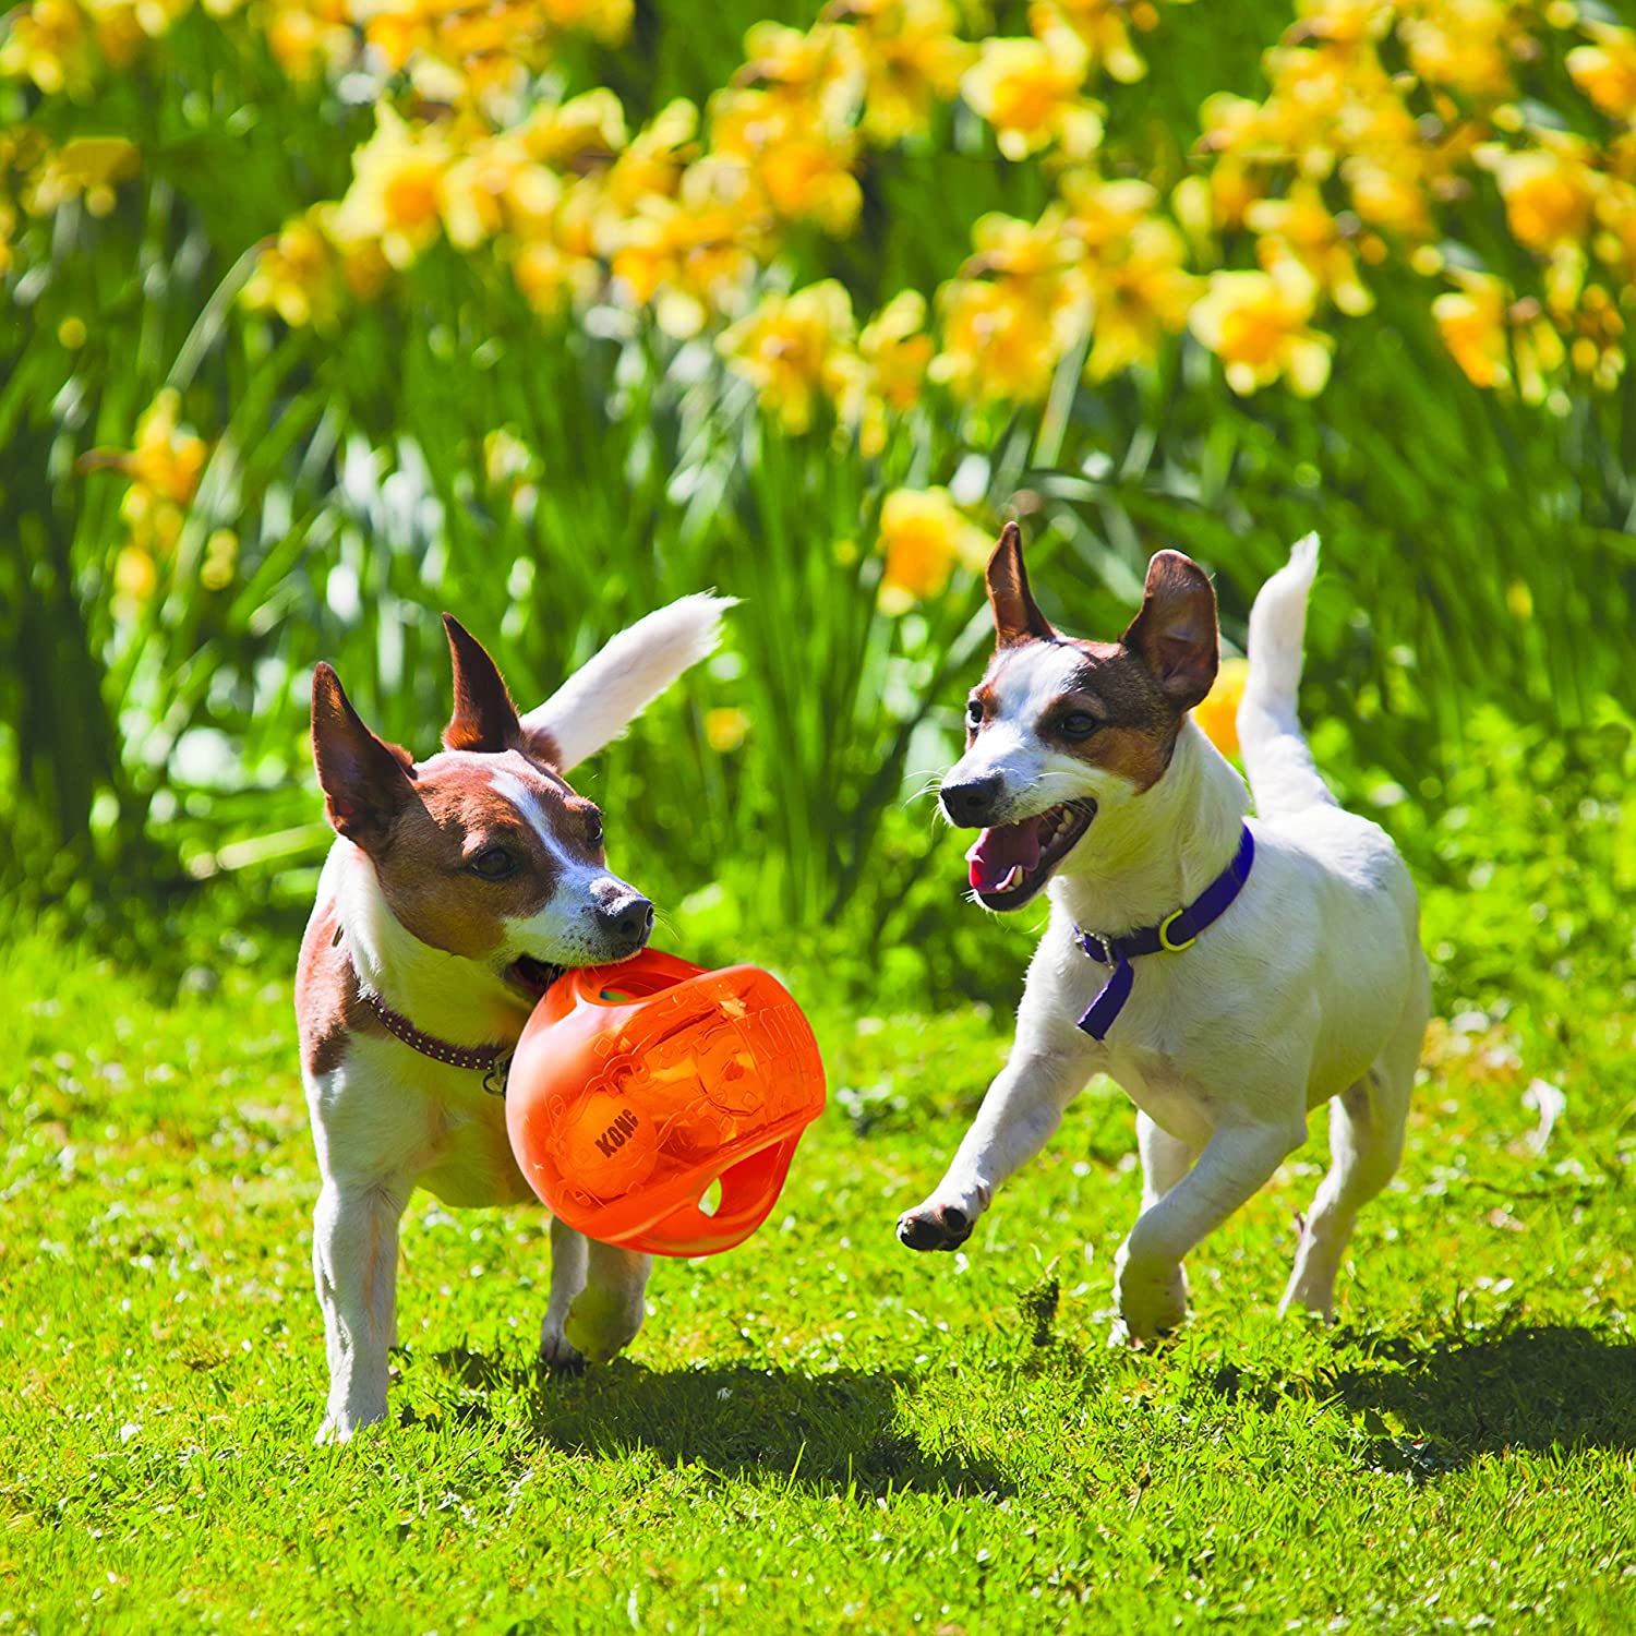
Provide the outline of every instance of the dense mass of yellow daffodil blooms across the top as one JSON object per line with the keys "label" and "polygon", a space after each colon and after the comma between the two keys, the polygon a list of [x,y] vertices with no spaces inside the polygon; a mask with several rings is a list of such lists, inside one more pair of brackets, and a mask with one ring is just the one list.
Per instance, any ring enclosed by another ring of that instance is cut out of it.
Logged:
{"label": "dense mass of yellow daffodil blooms across the top", "polygon": [[[85,103],[188,3],[28,0],[0,77]],[[1296,0],[1261,93],[1209,97],[1196,141],[1168,151],[1117,129],[1121,87],[1158,61],[1155,0],[1032,0],[1009,13],[1026,33],[975,39],[955,0],[829,0],[807,29],[757,23],[725,85],[635,129],[610,88],[563,93],[558,64],[569,36],[625,41],[631,0],[204,5],[291,79],[375,90],[345,190],[270,221],[244,280],[242,304],[291,329],[334,330],[453,252],[548,321],[612,306],[676,342],[707,335],[772,422],[870,460],[928,404],[955,420],[1040,404],[1180,337],[1240,396],[1317,394],[1337,334],[1405,272],[1481,388],[1559,406],[1575,378],[1608,389],[1625,368],[1636,31],[1569,0]],[[1539,98],[1546,59],[1571,118]],[[1034,167],[1049,203],[982,216],[937,288],[875,312],[833,278],[793,288],[792,247],[821,262],[825,240],[861,234],[872,155],[949,146]],[[0,278],[29,222],[70,203],[106,214],[141,165],[118,134],[0,136]],[[1500,224],[1503,270],[1482,257]],[[916,492],[918,520],[906,501],[883,520],[901,535],[888,589],[962,558],[952,502]]]}

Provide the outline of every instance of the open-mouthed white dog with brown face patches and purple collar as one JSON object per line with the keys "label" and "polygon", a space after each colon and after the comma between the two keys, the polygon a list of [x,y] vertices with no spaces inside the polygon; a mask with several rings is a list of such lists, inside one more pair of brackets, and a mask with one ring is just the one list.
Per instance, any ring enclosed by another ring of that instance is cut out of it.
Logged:
{"label": "open-mouthed white dog with brown face patches and purple collar", "polygon": [[978,901],[1050,926],[1011,1060],[898,1237],[952,1250],[1093,1073],[1137,1106],[1142,1214],[1116,1263],[1132,1338],[1184,1315],[1183,1256],[1245,1202],[1330,1104],[1332,1168],[1283,1306],[1332,1315],[1360,1206],[1397,1168],[1428,1009],[1418,905],[1386,834],[1342,811],[1296,718],[1317,538],[1256,597],[1243,782],[1188,712],[1217,667],[1216,594],[1160,551],[1119,643],[1057,635],[1016,525],[988,564],[996,648],[942,784]]}

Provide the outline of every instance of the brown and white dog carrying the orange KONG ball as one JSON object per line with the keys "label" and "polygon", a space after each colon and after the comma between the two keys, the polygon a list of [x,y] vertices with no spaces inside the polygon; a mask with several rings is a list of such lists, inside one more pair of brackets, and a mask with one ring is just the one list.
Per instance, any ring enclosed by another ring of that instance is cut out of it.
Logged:
{"label": "brown and white dog carrying the orange KONG ball", "polygon": [[[553,969],[635,954],[653,905],[609,872],[602,815],[564,774],[717,646],[725,599],[682,597],[519,717],[448,615],[455,713],[416,761],[312,676],[312,754],[337,839],[301,944],[296,1019],[322,1191],[312,1271],[329,1351],[317,1441],[386,1415],[398,1220],[530,1201],[506,1135],[504,1060]],[[649,1258],[551,1224],[540,1355],[612,1358],[641,1325]]]}

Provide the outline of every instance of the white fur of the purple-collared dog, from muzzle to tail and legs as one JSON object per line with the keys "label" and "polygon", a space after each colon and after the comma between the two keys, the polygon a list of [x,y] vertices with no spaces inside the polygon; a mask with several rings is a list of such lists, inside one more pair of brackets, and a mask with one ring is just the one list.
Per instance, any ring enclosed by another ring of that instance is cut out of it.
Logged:
{"label": "white fur of the purple-collared dog, from muzzle to tail and legs", "polygon": [[[1193,901],[1232,859],[1245,789],[1188,720],[1166,772],[1144,793],[1009,721],[1014,753],[982,771],[1008,779],[1014,821],[1075,795],[1098,813],[1047,892],[1050,924],[1029,965],[1011,1058],[931,1198],[898,1232],[916,1248],[954,1248],[998,1188],[1047,1142],[1093,1073],[1137,1106],[1145,1176],[1142,1214],[1119,1252],[1116,1284],[1130,1337],[1160,1333],[1186,1312],[1184,1255],[1245,1202],[1306,1140],[1307,1114],[1330,1103],[1332,1168],[1319,1188],[1283,1309],[1325,1315],[1358,1207],[1397,1166],[1428,1009],[1414,885],[1389,838],[1333,805],[1296,721],[1299,635],[1315,542],[1302,542],[1252,615],[1250,689],[1268,807],[1248,820],[1256,854],[1227,915],[1188,951],[1134,962],[1129,1001],[1098,1042],[1075,1024],[1109,972],[1073,928],[1126,933]],[[1291,658],[1291,641],[1296,645]],[[1024,649],[1026,651],[1026,649]],[[1042,649],[1050,651],[1050,649]],[[1021,656],[1021,654],[1019,654]],[[1256,667],[1261,674],[1256,676]],[[1032,661],[1036,676],[1049,661]],[[949,775],[978,771],[983,739]],[[1294,739],[1294,743],[1288,743]],[[1073,762],[1078,767],[1075,787]],[[1009,785],[1014,782],[1014,792]]]}

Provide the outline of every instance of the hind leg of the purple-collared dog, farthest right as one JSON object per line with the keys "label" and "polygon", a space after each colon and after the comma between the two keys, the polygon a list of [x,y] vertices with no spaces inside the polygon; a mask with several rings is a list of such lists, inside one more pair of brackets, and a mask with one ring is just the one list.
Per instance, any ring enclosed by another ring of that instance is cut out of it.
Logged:
{"label": "hind leg of the purple-collared dog, farthest right", "polygon": [[[1423,973],[1417,987],[1425,988]],[[1425,1005],[1412,1003],[1369,1072],[1330,1103],[1330,1168],[1301,1230],[1279,1314],[1304,1307],[1325,1319],[1335,1315],[1335,1274],[1358,1211],[1392,1180],[1404,1150],[1425,1018]]]}

